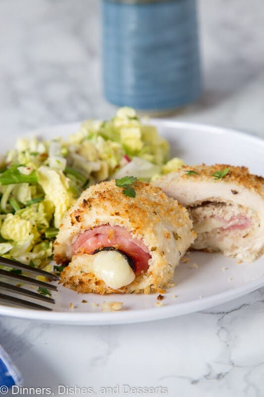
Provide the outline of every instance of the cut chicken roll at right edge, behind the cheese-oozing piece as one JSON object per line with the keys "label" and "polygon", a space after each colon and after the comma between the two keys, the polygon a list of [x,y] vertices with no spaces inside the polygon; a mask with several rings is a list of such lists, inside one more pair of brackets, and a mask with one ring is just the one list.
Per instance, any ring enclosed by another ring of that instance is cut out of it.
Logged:
{"label": "cut chicken roll at right edge, behind the cheese-oozing piece", "polygon": [[184,166],[153,185],[188,209],[197,233],[191,248],[243,262],[264,253],[264,179],[248,168]]}

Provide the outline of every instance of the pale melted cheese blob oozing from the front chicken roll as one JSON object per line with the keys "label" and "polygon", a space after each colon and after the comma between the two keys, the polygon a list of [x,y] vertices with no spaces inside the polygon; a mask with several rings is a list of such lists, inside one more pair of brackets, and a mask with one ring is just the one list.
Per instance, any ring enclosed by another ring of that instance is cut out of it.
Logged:
{"label": "pale melted cheese blob oozing from the front chicken roll", "polygon": [[95,254],[93,269],[96,277],[113,289],[130,284],[136,277],[124,256],[116,251]]}

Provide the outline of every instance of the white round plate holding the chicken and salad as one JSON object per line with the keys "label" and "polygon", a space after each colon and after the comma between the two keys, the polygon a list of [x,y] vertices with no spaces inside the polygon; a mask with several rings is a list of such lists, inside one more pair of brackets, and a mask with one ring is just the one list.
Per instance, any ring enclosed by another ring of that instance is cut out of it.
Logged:
{"label": "white round plate holding the chicken and salad", "polygon": [[[225,163],[245,165],[261,175],[264,170],[264,140],[232,130],[224,130],[174,121],[152,120],[161,135],[169,140],[171,155],[182,157],[186,163]],[[59,126],[33,132],[45,138],[66,136],[77,131],[79,125]],[[31,132],[32,135],[32,132]],[[11,148],[14,142],[9,141]],[[220,254],[191,253],[189,263],[181,263],[175,270],[177,285],[164,294],[163,306],[157,307],[157,295],[77,294],[59,287],[53,293],[56,304],[53,312],[0,306],[0,314],[62,324],[124,324],[168,317],[208,309],[230,301],[264,286],[264,256],[253,264],[238,265],[236,260]],[[198,267],[192,267],[197,264]],[[82,303],[85,299],[88,303]],[[92,303],[121,301],[122,310],[102,312]],[[69,304],[75,306],[69,309]]]}

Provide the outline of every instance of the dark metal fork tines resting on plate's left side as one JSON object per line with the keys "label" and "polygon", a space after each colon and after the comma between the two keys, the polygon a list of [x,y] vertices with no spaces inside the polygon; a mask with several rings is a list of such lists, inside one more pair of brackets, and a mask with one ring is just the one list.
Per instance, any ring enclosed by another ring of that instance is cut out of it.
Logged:
{"label": "dark metal fork tines resting on plate's left side", "polygon": [[[13,269],[24,270],[32,274],[45,276],[55,281],[59,280],[59,277],[57,275],[49,273],[48,271],[38,269],[37,267],[24,265],[20,262],[12,261],[10,259],[0,257],[0,265],[5,265],[8,267],[12,267]],[[0,278],[6,278],[12,281],[20,281],[25,284],[37,285],[48,290],[57,291],[56,285],[44,281],[39,281],[36,278],[27,277],[22,274],[17,274],[8,270],[0,269]],[[8,291],[17,295],[24,295],[28,298],[38,299],[46,303],[55,303],[54,299],[49,296],[41,295],[37,292],[29,291],[26,288],[18,287],[12,284],[8,284],[7,282],[0,281],[0,302],[9,303],[16,306],[22,306],[36,310],[52,310],[52,308],[49,306],[42,306],[38,305],[37,303],[26,301],[14,296],[5,295],[1,293],[1,291]]]}

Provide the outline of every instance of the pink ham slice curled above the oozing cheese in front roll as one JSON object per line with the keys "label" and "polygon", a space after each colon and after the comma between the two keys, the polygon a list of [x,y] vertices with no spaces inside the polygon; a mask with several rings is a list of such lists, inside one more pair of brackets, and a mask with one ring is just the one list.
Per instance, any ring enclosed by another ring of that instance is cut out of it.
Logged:
{"label": "pink ham slice curled above the oozing cheese in front roll", "polygon": [[93,254],[95,250],[114,247],[134,260],[136,275],[147,271],[151,256],[142,240],[132,237],[121,226],[103,225],[86,230],[72,245],[72,255],[78,253]]}

